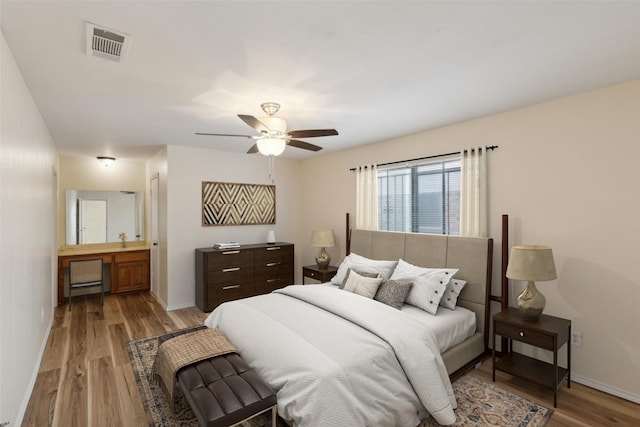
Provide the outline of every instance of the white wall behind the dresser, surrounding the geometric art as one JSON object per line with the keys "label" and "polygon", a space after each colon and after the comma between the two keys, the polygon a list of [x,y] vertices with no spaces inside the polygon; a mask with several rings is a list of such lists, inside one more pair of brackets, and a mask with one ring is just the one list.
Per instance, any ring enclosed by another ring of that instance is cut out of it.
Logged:
{"label": "white wall behind the dresser, surrounding the geometric art", "polygon": [[[195,305],[195,249],[219,241],[266,242],[274,230],[278,241],[297,243],[302,187],[298,161],[277,158],[276,224],[202,226],[202,181],[272,184],[269,161],[260,154],[237,154],[217,150],[167,147],[167,295],[169,310]],[[299,262],[295,261],[298,275]]]}

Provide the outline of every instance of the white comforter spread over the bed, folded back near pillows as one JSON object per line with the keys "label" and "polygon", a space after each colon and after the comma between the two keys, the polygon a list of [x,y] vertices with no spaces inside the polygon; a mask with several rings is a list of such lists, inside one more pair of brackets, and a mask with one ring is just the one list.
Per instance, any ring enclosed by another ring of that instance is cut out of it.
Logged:
{"label": "white comforter spread over the bed, folded back near pillows", "polygon": [[455,421],[433,335],[400,311],[329,286],[292,285],[225,303],[206,319],[277,393],[295,426]]}

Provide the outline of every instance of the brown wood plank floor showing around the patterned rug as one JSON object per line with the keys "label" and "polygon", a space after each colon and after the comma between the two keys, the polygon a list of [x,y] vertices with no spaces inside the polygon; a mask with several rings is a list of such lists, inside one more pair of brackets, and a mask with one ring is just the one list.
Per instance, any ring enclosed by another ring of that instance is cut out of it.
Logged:
{"label": "brown wood plank floor showing around the patterned rug", "polygon": [[[145,426],[125,343],[202,324],[196,307],[166,312],[149,293],[74,297],[57,307],[23,426]],[[491,381],[491,361],[471,375]],[[553,407],[550,390],[498,374],[501,387]],[[554,426],[636,426],[640,405],[578,383],[562,387]]]}

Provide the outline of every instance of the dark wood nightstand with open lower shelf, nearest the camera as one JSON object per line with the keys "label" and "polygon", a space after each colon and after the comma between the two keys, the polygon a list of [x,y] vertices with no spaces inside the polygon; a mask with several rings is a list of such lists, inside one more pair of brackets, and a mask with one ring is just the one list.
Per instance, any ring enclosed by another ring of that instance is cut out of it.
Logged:
{"label": "dark wood nightstand with open lower shelf, nearest the camera", "polygon": [[[496,359],[496,335],[508,338],[507,349]],[[520,341],[553,352],[553,364],[514,353],[512,341]],[[542,314],[537,321],[524,320],[517,308],[509,307],[493,316],[493,381],[496,369],[553,388],[553,407],[558,407],[558,389],[564,378],[571,388],[571,320]],[[567,369],[558,366],[558,349],[567,344]]]}

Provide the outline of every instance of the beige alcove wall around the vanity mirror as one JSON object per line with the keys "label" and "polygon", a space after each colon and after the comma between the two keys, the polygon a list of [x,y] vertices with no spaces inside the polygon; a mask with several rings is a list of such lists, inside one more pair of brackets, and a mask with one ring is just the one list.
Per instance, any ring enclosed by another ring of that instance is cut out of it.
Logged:
{"label": "beige alcove wall around the vanity mirror", "polygon": [[[58,192],[58,245],[65,244],[65,191],[145,191],[145,163],[116,160],[105,167],[95,157],[60,156]],[[145,208],[146,208],[145,203]],[[146,210],[146,209],[145,209]],[[147,230],[145,228],[145,236]],[[145,239],[146,240],[146,239]]]}

